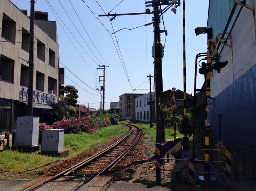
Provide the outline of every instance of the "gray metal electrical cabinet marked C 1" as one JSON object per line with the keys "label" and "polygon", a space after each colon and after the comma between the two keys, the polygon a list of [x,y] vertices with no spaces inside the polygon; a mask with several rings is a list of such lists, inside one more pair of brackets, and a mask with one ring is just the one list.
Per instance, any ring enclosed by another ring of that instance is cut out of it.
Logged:
{"label": "gray metal electrical cabinet marked C 1", "polygon": [[38,145],[39,117],[17,117],[16,146]]}

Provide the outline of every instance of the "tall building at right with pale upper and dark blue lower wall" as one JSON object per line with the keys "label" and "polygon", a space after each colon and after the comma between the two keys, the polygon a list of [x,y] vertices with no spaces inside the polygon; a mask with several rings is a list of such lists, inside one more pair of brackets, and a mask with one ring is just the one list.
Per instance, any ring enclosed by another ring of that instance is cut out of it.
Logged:
{"label": "tall building at right with pale upper and dark blue lower wall", "polygon": [[213,39],[218,33],[222,41],[228,38],[218,42],[220,60],[228,64],[211,72],[211,131],[224,145],[256,145],[256,0],[245,2],[209,1],[207,28],[212,26]]}

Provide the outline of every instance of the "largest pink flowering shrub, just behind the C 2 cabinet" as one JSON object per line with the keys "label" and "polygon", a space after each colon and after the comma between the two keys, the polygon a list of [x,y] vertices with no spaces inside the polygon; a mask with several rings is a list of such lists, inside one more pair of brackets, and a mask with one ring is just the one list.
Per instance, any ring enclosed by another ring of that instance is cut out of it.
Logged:
{"label": "largest pink flowering shrub, just behind the C 2 cabinet", "polygon": [[79,134],[82,131],[94,133],[99,129],[99,125],[90,116],[71,117],[68,120],[57,121],[52,124],[53,129],[64,129],[65,133]]}

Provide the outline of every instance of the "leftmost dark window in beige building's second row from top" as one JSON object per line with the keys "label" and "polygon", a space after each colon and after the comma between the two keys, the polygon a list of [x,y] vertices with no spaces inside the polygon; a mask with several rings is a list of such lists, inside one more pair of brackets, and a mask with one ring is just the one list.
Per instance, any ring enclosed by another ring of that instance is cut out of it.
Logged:
{"label": "leftmost dark window in beige building's second row from top", "polygon": [[0,80],[14,82],[14,60],[1,55]]}

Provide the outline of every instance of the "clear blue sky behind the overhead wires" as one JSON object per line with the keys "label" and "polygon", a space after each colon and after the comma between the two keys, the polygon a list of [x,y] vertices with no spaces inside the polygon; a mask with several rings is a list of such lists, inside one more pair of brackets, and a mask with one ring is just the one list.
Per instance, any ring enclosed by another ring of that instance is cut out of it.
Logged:
{"label": "clear blue sky behind the overhead wires", "polygon": [[[19,9],[27,9],[30,15],[30,0],[12,2]],[[207,51],[207,35],[196,36],[194,29],[207,26],[209,1],[186,0],[185,3],[186,88],[187,93],[193,94],[195,57],[198,53]],[[152,7],[149,8],[152,11]],[[100,91],[95,90],[103,85],[103,81],[99,82],[103,70],[96,70],[100,68],[99,65],[109,66],[105,69],[105,109],[110,108],[110,102],[118,102],[119,96],[123,93],[133,93],[132,89],[135,88],[149,88],[147,76],[154,75],[151,53],[153,26],[144,27],[144,24],[152,22],[153,15],[117,16],[112,22],[112,16],[98,16],[111,10],[111,14],[123,14],[145,12],[145,9],[145,1],[138,0],[36,1],[35,10],[48,12],[48,20],[57,22],[60,67],[66,66],[77,76],[65,69],[67,77],[64,85],[71,84],[78,89],[78,104],[100,108]],[[164,33],[161,35],[161,42],[163,45],[165,43],[162,62],[164,91],[172,87],[183,91],[182,20],[182,0],[181,6],[177,8],[177,14],[169,9],[163,14],[163,19],[161,18],[160,30],[164,30],[165,27],[168,31],[167,37]],[[120,30],[122,28],[134,29]],[[111,35],[113,31],[118,32]],[[197,88],[201,88],[204,76],[199,73],[197,76]],[[103,80],[103,77],[100,79]],[[134,91],[148,92],[149,90]]]}

